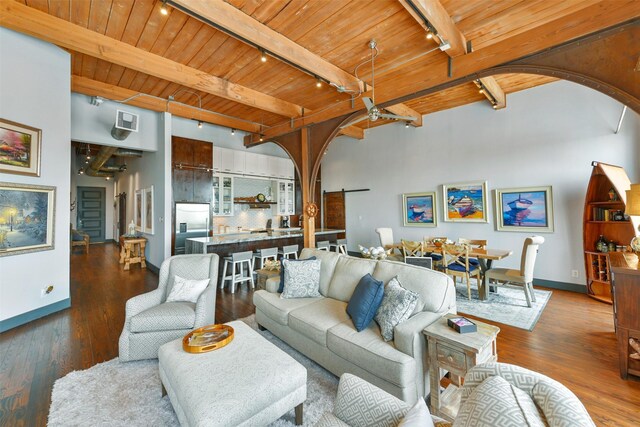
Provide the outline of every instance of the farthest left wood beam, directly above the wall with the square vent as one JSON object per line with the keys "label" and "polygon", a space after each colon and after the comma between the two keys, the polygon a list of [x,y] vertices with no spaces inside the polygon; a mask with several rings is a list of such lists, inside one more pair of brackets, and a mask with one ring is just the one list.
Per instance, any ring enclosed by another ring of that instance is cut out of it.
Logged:
{"label": "farthest left wood beam, directly above the wall with the square vent", "polygon": [[[134,92],[129,89],[124,89],[81,76],[71,76],[71,90],[84,95],[102,96],[113,100],[124,100],[139,95],[138,92]],[[147,94],[141,94],[141,96],[127,101],[126,104],[145,108],[151,111],[167,111],[175,116],[184,117],[185,119],[202,120],[203,122],[243,130],[245,132],[260,131],[260,125],[257,123],[250,123],[233,117],[222,116],[199,108],[190,107],[179,102],[168,102],[166,99]]]}

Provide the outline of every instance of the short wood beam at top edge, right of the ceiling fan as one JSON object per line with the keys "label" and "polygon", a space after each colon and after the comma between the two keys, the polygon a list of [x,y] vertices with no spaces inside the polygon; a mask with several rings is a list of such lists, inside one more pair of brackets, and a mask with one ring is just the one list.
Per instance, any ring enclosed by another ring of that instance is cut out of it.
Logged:
{"label": "short wood beam at top edge, right of the ceiling fan", "polygon": [[[418,24],[422,26],[426,31],[431,32],[433,29],[437,32],[437,37],[440,40],[446,40],[451,47],[445,50],[445,53],[451,57],[464,55],[467,53],[467,40],[460,32],[456,24],[449,16],[449,12],[442,6],[438,0],[399,0],[400,4],[418,21]],[[416,12],[416,9],[418,12]],[[422,16],[421,16],[422,15]],[[433,26],[429,28],[427,23],[424,22],[422,17],[427,18],[429,23]],[[436,43],[439,41],[436,40]]]}

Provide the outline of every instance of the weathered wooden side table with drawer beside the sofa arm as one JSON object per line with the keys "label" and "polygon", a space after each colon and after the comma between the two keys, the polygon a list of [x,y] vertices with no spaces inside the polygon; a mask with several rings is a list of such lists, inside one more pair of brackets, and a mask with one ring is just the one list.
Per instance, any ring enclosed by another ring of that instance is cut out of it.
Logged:
{"label": "weathered wooden side table with drawer beside the sofa arm", "polygon": [[[477,320],[477,332],[460,334],[447,325],[447,319],[461,317],[449,314],[427,326],[429,376],[431,381],[431,413],[453,421],[460,407],[460,386],[467,371],[485,362],[496,362],[496,338],[500,328]],[[440,395],[440,369],[450,373],[452,384]]]}

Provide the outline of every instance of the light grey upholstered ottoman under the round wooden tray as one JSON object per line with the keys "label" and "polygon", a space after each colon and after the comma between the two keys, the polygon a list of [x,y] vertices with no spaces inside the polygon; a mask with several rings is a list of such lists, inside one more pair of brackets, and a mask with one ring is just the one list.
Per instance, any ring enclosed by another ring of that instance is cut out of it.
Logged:
{"label": "light grey upholstered ottoman under the round wooden tray", "polygon": [[292,408],[302,424],[307,370],[244,322],[228,325],[235,337],[218,350],[187,353],[180,339],[160,347],[160,379],[180,424],[265,426]]}

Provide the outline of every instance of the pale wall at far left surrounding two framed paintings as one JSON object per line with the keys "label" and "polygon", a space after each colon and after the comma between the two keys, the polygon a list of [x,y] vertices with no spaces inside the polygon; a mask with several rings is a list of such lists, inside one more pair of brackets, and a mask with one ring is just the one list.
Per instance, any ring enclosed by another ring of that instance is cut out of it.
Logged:
{"label": "pale wall at far left surrounding two framed paintings", "polygon": [[42,130],[40,177],[0,181],[56,187],[54,249],[0,258],[0,321],[69,298],[69,75],[68,52],[0,28],[0,117]]}

